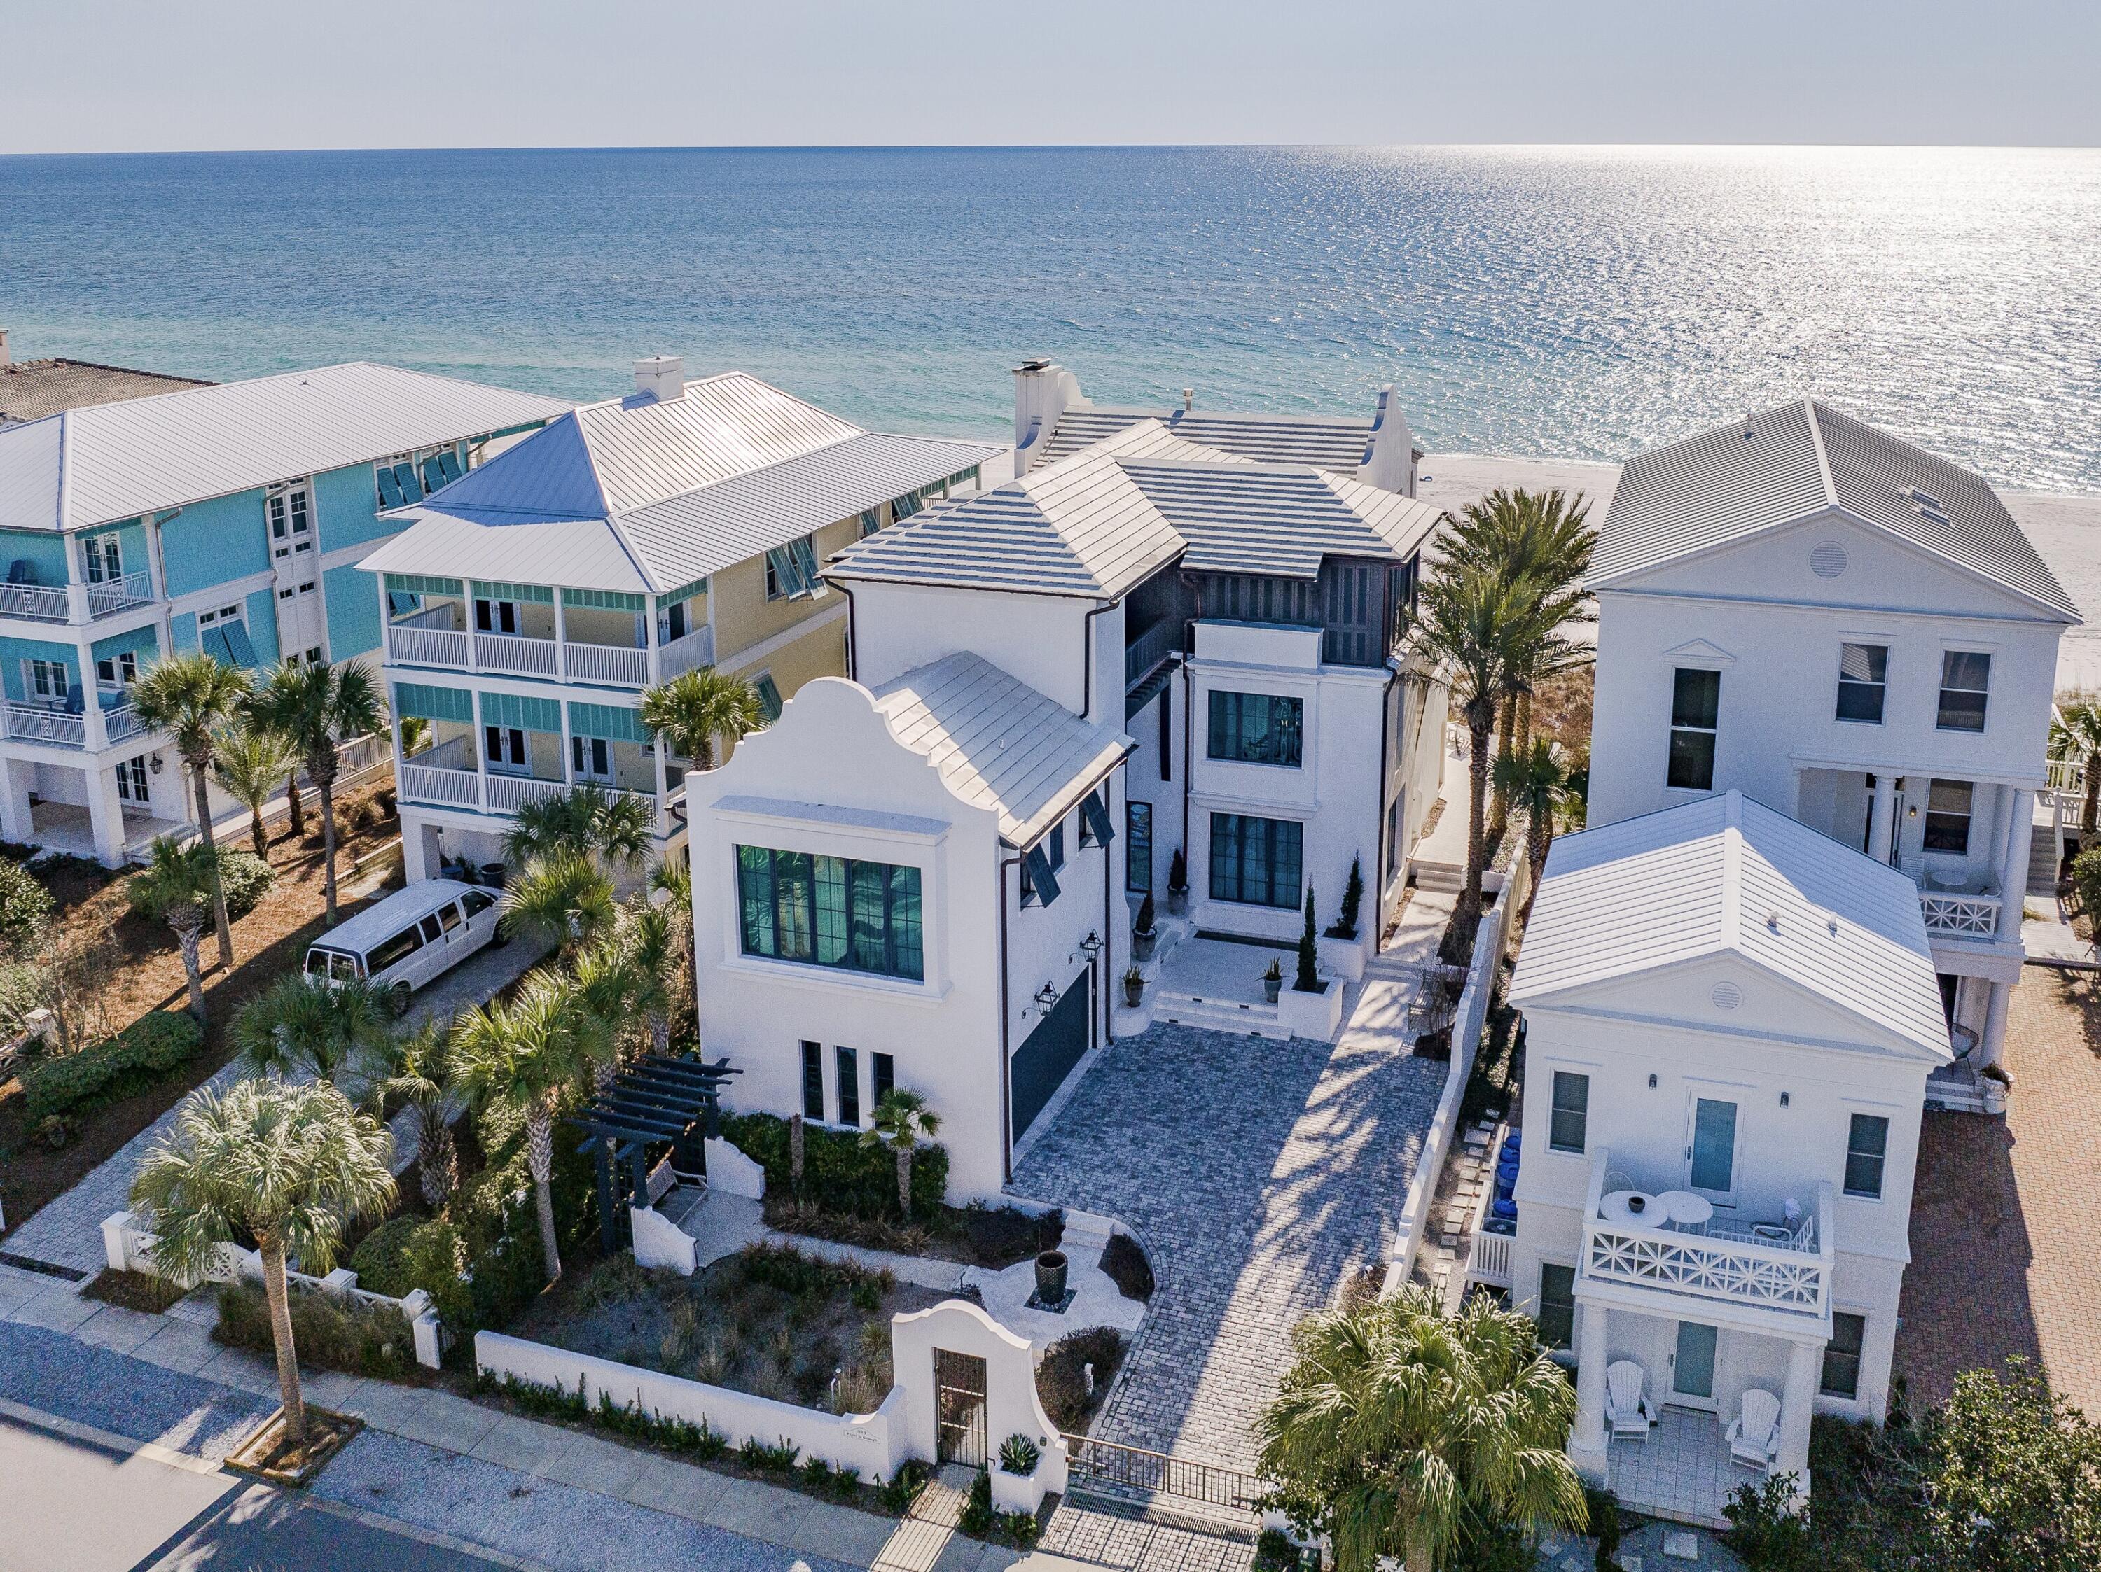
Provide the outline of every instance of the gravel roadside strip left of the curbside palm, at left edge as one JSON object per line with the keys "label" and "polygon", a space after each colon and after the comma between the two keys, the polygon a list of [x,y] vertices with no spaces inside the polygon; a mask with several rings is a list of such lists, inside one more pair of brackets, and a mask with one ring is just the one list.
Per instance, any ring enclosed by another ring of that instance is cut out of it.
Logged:
{"label": "gravel roadside strip left of the curbside palm, at left edge", "polygon": [[46,1415],[219,1463],[275,1408],[216,1381],[0,1322],[0,1396]]}

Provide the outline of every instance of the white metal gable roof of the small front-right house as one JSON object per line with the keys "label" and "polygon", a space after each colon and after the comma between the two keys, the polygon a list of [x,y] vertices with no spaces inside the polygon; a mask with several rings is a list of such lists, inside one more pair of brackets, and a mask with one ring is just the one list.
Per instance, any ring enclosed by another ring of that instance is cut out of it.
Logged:
{"label": "white metal gable roof of the small front-right house", "polygon": [[1740,791],[1557,837],[1511,1003],[1712,955],[1950,1058],[1918,886]]}

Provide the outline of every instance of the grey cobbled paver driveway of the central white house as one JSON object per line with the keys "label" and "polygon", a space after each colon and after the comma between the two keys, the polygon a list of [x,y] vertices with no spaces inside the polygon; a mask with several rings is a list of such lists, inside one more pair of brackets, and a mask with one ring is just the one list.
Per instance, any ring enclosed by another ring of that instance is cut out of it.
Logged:
{"label": "grey cobbled paver driveway of the central white house", "polygon": [[1095,1436],[1252,1469],[1292,1326],[1378,1266],[1445,1066],[1368,978],[1336,1047],[1153,1026],[1101,1056],[1013,1190],[1135,1228],[1160,1282]]}

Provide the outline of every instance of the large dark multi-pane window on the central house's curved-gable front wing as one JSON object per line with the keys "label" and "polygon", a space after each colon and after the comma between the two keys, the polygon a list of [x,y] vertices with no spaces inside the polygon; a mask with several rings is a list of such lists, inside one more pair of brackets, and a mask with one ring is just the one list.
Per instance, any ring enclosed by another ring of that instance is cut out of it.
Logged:
{"label": "large dark multi-pane window on the central house's curved-gable front wing", "polygon": [[740,846],[737,905],[746,955],[924,976],[918,869]]}

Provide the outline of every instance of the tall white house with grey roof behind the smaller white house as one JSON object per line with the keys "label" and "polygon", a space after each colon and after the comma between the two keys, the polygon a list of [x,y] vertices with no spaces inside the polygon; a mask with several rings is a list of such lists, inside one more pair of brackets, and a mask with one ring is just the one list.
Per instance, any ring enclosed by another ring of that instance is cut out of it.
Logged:
{"label": "tall white house with grey roof behind the smaller white house", "polygon": [[2057,640],[1992,487],[1813,401],[1630,460],[1599,535],[1590,823],[1738,789],[1914,881],[1977,1106],[2019,980]]}

